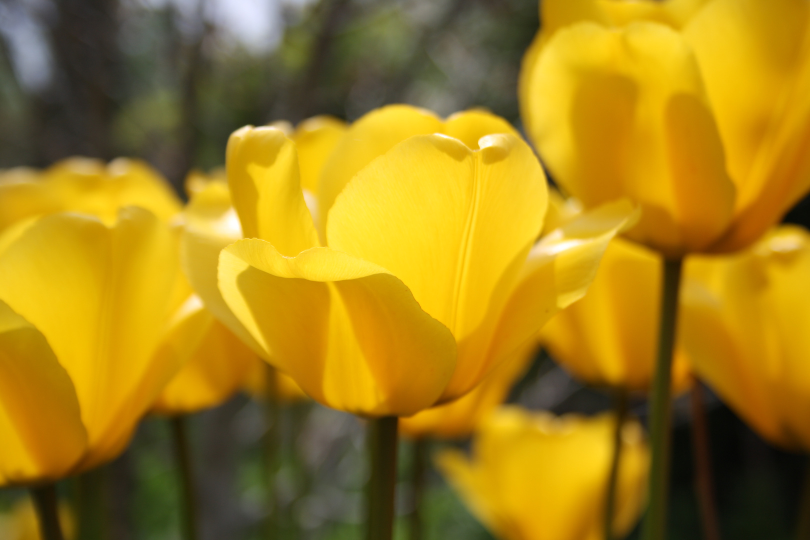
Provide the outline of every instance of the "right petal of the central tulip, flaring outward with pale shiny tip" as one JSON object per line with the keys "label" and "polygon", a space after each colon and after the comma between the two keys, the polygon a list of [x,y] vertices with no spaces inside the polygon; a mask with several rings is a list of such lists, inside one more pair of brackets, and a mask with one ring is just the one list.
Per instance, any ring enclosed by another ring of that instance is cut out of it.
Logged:
{"label": "right petal of the central tulip, flaring outward with pale shiny tip", "polygon": [[626,201],[591,210],[540,240],[498,323],[488,369],[497,366],[558,311],[585,295],[610,241],[637,216]]}

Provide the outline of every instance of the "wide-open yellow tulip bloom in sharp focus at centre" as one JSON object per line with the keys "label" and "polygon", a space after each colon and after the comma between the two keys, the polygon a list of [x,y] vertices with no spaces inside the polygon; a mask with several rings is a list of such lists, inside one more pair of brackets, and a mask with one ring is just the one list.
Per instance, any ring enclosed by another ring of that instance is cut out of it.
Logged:
{"label": "wide-open yellow tulip bloom in sharp focus at centre", "polygon": [[632,213],[607,206],[532,248],[544,176],[504,124],[480,111],[447,121],[407,106],[369,113],[326,160],[320,234],[296,144],[273,127],[238,130],[228,185],[249,238],[220,255],[232,216],[211,198],[220,227],[201,220],[187,235],[194,288],[328,406],[413,415],[461,397],[584,294]]}

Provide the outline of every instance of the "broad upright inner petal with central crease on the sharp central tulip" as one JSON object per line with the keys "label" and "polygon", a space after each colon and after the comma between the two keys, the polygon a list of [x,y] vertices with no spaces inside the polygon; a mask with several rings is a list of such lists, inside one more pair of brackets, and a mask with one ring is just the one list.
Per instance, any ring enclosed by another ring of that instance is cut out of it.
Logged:
{"label": "broad upright inner petal with central crease on the sharp central tulip", "polygon": [[513,135],[481,151],[442,135],[408,139],[364,168],[330,212],[327,241],[390,270],[461,340],[542,227],[547,188]]}

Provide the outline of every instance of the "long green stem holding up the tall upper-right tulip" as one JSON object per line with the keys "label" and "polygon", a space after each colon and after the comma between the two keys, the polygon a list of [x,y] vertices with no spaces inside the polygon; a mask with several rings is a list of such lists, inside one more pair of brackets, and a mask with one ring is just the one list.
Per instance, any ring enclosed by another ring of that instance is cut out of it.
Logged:
{"label": "long green stem holding up the tall upper-right tulip", "polygon": [[664,540],[667,531],[669,453],[671,439],[672,354],[675,351],[681,260],[664,261],[658,357],[650,395],[650,506],[644,520],[644,540]]}

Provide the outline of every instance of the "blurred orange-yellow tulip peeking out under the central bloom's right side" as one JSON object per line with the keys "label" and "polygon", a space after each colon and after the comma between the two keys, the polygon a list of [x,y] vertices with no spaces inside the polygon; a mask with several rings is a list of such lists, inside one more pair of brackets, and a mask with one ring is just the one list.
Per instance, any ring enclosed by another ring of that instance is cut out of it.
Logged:
{"label": "blurred orange-yellow tulip peeking out under the central bloom's right side", "polygon": [[535,340],[527,341],[463,398],[399,419],[399,432],[412,439],[470,436],[482,419],[505,402],[515,381],[527,371],[537,348]]}

